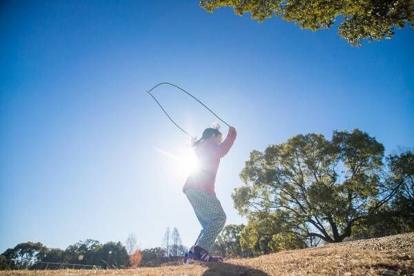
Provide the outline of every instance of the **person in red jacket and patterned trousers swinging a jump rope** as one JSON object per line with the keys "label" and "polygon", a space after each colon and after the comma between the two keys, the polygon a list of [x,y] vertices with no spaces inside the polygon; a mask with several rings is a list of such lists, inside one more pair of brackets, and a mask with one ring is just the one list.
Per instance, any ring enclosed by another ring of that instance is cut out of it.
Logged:
{"label": "person in red jacket and patterned trousers swinging a jump rope", "polygon": [[236,135],[235,128],[230,126],[226,139],[221,142],[222,135],[217,128],[206,128],[201,139],[194,143],[199,169],[190,173],[183,192],[193,206],[202,229],[194,246],[184,256],[184,264],[223,262],[222,257],[210,255],[215,239],[226,223],[226,214],[215,195],[215,178],[220,159],[233,146]]}

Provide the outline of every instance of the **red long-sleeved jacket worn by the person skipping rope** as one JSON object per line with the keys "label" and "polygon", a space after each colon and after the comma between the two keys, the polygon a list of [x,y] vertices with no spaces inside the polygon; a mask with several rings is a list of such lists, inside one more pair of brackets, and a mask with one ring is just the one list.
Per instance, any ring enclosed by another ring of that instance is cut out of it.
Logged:
{"label": "red long-sleeved jacket worn by the person skipping rope", "polygon": [[197,188],[215,195],[214,184],[220,158],[224,157],[233,146],[236,135],[235,130],[229,130],[226,139],[219,145],[210,139],[200,141],[195,148],[199,166],[188,176],[183,187],[184,193],[186,193],[186,188]]}

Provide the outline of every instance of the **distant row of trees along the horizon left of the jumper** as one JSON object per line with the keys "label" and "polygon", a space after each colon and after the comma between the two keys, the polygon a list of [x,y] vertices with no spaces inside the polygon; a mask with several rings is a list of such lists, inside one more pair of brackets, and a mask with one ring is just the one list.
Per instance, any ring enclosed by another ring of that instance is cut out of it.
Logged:
{"label": "distant row of trees along the horizon left of the jumper", "polygon": [[167,262],[181,262],[182,253],[187,250],[181,244],[177,228],[171,231],[167,228],[162,246],[140,250],[137,248],[137,238],[132,234],[126,239],[125,245],[121,242],[101,244],[95,239],[86,239],[68,246],[65,250],[48,248],[40,242],[24,242],[8,248],[0,255],[0,270],[159,266]]}

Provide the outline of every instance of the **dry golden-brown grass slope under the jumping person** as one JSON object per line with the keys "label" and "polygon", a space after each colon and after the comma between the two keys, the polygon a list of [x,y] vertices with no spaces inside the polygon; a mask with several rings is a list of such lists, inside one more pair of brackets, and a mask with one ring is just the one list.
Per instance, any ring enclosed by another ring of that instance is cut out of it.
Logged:
{"label": "dry golden-brown grass slope under the jumping person", "polygon": [[414,233],[366,239],[319,248],[290,250],[251,259],[229,259],[208,266],[164,266],[128,270],[3,271],[0,276],[266,276],[414,275]]}

